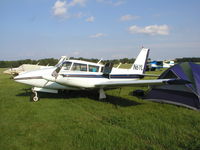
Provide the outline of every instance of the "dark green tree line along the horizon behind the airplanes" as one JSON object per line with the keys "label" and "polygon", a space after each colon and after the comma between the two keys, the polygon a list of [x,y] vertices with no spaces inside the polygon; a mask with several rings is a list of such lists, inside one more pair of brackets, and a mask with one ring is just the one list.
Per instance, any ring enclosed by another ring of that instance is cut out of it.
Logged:
{"label": "dark green tree line along the horizon behind the airplanes", "polygon": [[[71,57],[70,59],[78,59],[78,60],[84,60],[84,61],[90,61],[90,62],[99,62],[99,59],[95,58],[75,58]],[[111,62],[113,64],[132,64],[134,63],[135,59],[134,58],[123,58],[123,59],[112,59],[112,60],[102,60],[102,64],[106,64],[108,62]],[[149,59],[150,61],[150,59]],[[184,57],[184,58],[176,58],[175,59],[176,63],[181,63],[181,62],[200,62],[200,57]],[[0,61],[0,68],[10,68],[10,67],[18,67],[23,64],[39,64],[39,65],[49,65],[49,66],[54,66],[58,63],[58,59],[54,58],[46,58],[46,59],[39,59],[39,60],[31,60],[31,59],[25,59],[25,60],[16,60],[16,61]]]}

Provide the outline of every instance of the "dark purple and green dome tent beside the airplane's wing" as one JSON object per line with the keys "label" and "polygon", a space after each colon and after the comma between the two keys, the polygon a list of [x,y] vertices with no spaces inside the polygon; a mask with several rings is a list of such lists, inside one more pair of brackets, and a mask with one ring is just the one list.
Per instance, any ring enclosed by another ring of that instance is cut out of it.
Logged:
{"label": "dark purple and green dome tent beside the airplane's wing", "polygon": [[159,78],[178,78],[191,83],[152,86],[145,99],[200,110],[200,65],[188,62],[177,64],[163,72]]}

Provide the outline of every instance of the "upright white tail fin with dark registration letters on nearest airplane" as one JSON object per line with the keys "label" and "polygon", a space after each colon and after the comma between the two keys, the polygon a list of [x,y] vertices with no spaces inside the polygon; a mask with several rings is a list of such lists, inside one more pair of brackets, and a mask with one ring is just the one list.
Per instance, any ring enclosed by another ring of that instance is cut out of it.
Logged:
{"label": "upright white tail fin with dark registration letters on nearest airplane", "polygon": [[134,64],[130,68],[135,74],[144,74],[150,49],[142,48]]}

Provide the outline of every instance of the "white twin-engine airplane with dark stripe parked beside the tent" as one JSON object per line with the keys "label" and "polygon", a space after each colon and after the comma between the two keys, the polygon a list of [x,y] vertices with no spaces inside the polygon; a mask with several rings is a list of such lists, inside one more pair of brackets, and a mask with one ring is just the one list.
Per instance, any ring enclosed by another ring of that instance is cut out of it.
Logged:
{"label": "white twin-engine airplane with dark stripe parked beside the tent", "polygon": [[[114,68],[80,60],[64,59],[52,68],[20,74],[15,81],[33,86],[32,101],[38,101],[37,92],[58,93],[58,90],[99,90],[99,99],[106,98],[104,89],[121,86],[148,86],[170,84],[177,79],[139,80],[144,76],[149,49],[142,48],[130,69]],[[150,75],[151,76],[151,75]]]}

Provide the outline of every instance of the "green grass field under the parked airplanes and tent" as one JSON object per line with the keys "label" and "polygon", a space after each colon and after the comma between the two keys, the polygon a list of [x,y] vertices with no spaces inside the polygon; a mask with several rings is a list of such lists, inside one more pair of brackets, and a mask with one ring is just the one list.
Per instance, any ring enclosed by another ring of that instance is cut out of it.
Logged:
{"label": "green grass field under the parked airplanes and tent", "polygon": [[[145,101],[134,87],[72,92],[66,98],[42,94],[29,101],[26,88],[0,69],[0,149],[2,150],[198,150],[200,112]],[[159,71],[157,73],[160,73]],[[146,88],[142,88],[146,89]]]}

